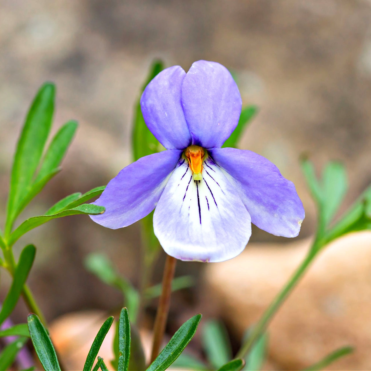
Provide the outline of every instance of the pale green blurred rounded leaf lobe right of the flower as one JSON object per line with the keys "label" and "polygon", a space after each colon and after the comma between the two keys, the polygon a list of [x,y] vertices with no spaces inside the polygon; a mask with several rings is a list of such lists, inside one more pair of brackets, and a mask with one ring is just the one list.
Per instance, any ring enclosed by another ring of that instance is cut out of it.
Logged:
{"label": "pale green blurred rounded leaf lobe right of the flower", "polygon": [[347,192],[347,174],[339,162],[329,162],[322,176],[323,210],[322,217],[325,225],[331,221]]}

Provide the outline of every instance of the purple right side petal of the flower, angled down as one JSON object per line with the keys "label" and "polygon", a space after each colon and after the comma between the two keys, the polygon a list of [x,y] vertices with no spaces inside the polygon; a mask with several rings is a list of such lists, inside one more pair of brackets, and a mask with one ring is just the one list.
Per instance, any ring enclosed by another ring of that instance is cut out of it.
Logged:
{"label": "purple right side petal of the flower, angled down", "polygon": [[[228,174],[260,229],[276,236],[299,234],[305,213],[295,185],[263,156],[236,148],[215,148],[213,160]],[[238,214],[237,214],[238,215]]]}

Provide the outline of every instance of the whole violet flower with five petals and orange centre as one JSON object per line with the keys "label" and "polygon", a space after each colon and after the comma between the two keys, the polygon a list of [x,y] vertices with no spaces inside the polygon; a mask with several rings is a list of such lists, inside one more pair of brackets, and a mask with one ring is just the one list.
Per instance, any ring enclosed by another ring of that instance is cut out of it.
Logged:
{"label": "whole violet flower with five petals and orange centre", "polygon": [[293,183],[266,158],[220,148],[236,128],[242,100],[228,70],[199,60],[160,72],[141,97],[148,128],[167,151],[140,158],[107,185],[90,216],[126,227],[148,215],[161,246],[181,260],[221,262],[242,252],[251,223],[298,235],[304,209]]}

